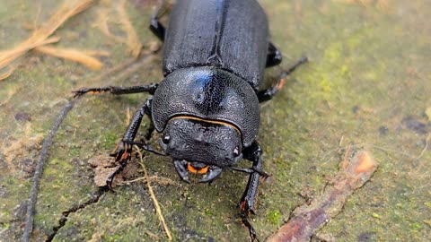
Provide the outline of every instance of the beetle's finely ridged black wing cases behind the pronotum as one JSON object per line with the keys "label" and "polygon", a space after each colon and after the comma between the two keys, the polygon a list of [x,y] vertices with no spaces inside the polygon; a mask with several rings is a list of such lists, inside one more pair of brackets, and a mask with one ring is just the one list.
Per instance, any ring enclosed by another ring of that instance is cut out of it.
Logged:
{"label": "beetle's finely ridged black wing cases behind the pronotum", "polygon": [[268,41],[267,16],[255,0],[179,0],[164,39],[163,73],[213,65],[257,90]]}

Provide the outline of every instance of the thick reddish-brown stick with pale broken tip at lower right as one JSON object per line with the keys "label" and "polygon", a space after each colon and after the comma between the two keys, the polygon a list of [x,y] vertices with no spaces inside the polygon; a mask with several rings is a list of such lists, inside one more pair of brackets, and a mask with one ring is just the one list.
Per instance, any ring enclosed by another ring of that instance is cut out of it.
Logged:
{"label": "thick reddish-brown stick with pale broken tip at lower right", "polygon": [[309,241],[314,231],[341,212],[348,196],[364,186],[375,169],[377,163],[369,152],[347,148],[345,159],[339,164],[339,172],[323,194],[312,203],[297,207],[294,217],[267,241]]}

